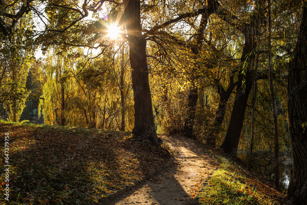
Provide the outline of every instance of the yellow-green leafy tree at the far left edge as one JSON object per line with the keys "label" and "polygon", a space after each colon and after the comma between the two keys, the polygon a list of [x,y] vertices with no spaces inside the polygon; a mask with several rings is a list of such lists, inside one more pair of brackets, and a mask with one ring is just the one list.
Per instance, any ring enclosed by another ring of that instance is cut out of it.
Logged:
{"label": "yellow-green leafy tree at the far left edge", "polygon": [[[2,8],[1,16],[5,21],[0,21],[0,103],[9,120],[18,122],[31,93],[25,84],[35,62],[32,57],[35,46],[30,38],[34,27],[30,16],[5,13],[8,7]],[[20,12],[25,11],[21,9]]]}

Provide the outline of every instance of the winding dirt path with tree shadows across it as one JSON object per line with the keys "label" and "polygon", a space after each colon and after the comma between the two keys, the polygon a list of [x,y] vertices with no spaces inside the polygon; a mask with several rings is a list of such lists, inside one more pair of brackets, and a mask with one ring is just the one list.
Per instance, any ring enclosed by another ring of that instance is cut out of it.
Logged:
{"label": "winding dirt path with tree shadows across it", "polygon": [[159,137],[176,152],[175,164],[110,204],[181,205],[191,202],[198,193],[202,183],[216,167],[216,160],[200,151],[193,140],[164,135]]}

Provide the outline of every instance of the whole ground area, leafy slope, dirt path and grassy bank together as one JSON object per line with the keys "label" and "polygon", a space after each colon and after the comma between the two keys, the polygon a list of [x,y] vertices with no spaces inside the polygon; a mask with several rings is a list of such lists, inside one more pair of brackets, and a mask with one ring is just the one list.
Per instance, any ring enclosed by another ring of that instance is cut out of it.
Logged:
{"label": "whole ground area, leafy slope, dirt path and grassy bank together", "polygon": [[160,137],[164,144],[155,148],[129,132],[1,121],[0,163],[10,165],[10,197],[4,199],[2,169],[0,204],[93,204],[160,168],[169,161],[166,150],[174,158],[171,167],[111,203],[188,204],[207,180],[199,194],[203,205],[284,204],[285,191],[247,171],[244,162],[194,140]]}

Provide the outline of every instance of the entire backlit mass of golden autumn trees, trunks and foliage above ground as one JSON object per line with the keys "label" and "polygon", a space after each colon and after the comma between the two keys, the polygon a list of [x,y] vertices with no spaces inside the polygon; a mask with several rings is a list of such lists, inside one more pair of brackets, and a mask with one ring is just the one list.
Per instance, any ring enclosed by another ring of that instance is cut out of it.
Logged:
{"label": "entire backlit mass of golden autumn trees, trunks and foliage above ground", "polygon": [[253,150],[275,150],[277,170],[291,144],[288,197],[306,203],[296,191],[307,179],[305,1],[0,7],[0,103],[10,121],[35,99],[45,124],[130,131],[157,147],[157,132],[181,133],[230,157],[250,148],[251,160]]}

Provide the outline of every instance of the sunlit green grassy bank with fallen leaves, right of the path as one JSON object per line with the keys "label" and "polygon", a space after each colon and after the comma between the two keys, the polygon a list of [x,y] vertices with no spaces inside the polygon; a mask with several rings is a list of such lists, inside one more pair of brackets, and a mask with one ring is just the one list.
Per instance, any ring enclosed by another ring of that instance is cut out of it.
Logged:
{"label": "sunlit green grassy bank with fallen leaves, right of the path", "polygon": [[260,182],[235,162],[212,151],[208,152],[216,157],[219,168],[213,172],[207,186],[200,192],[199,204],[282,204],[284,193]]}

